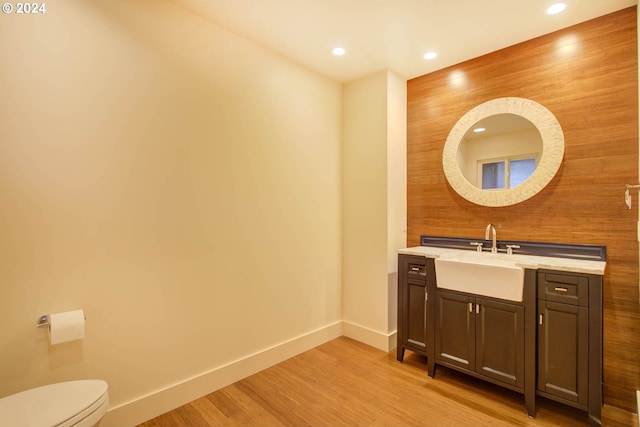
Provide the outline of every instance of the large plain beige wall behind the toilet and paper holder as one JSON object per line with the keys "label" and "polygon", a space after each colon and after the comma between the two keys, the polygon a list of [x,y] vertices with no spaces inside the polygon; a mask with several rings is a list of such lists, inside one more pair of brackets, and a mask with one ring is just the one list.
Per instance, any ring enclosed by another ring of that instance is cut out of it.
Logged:
{"label": "large plain beige wall behind the toilet and paper holder", "polygon": [[341,85],[166,2],[47,6],[0,25],[0,396],[97,377],[117,408],[335,335]]}

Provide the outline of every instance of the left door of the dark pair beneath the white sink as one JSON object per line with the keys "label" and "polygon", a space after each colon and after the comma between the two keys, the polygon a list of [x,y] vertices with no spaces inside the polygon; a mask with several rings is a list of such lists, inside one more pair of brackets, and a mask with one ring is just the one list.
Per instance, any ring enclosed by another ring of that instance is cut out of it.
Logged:
{"label": "left door of the dark pair beneath the white sink", "polygon": [[436,361],[475,370],[474,298],[436,292]]}

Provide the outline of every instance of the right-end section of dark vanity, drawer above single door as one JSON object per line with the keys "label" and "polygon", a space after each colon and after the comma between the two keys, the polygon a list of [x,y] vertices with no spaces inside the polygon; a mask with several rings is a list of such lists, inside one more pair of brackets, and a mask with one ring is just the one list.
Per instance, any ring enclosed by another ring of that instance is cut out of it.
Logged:
{"label": "right-end section of dark vanity, drawer above single door", "polygon": [[601,425],[602,276],[538,271],[536,393]]}

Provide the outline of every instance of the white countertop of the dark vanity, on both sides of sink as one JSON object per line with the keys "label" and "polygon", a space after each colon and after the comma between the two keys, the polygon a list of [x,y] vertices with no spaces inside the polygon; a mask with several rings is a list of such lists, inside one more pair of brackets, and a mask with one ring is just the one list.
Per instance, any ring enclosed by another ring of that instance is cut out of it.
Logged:
{"label": "white countertop of the dark vanity, on both sides of sink", "polygon": [[[439,258],[447,254],[468,253],[470,251],[464,249],[438,248],[435,246],[415,246],[412,248],[398,249],[399,254],[424,256],[427,258]],[[487,257],[508,258],[516,261],[516,265],[529,269],[549,269],[559,271],[570,271],[573,273],[599,274],[604,275],[604,269],[607,263],[605,261],[590,261],[571,258],[544,257],[535,255],[507,255],[492,254],[485,252]]]}

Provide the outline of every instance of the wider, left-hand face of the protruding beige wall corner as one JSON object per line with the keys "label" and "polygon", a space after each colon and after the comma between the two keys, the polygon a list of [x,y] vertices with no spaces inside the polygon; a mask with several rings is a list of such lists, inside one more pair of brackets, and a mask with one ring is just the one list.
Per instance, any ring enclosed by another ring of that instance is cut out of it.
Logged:
{"label": "wider, left-hand face of the protruding beige wall corner", "polygon": [[342,152],[344,332],[372,342],[387,327],[386,72],[345,85]]}

